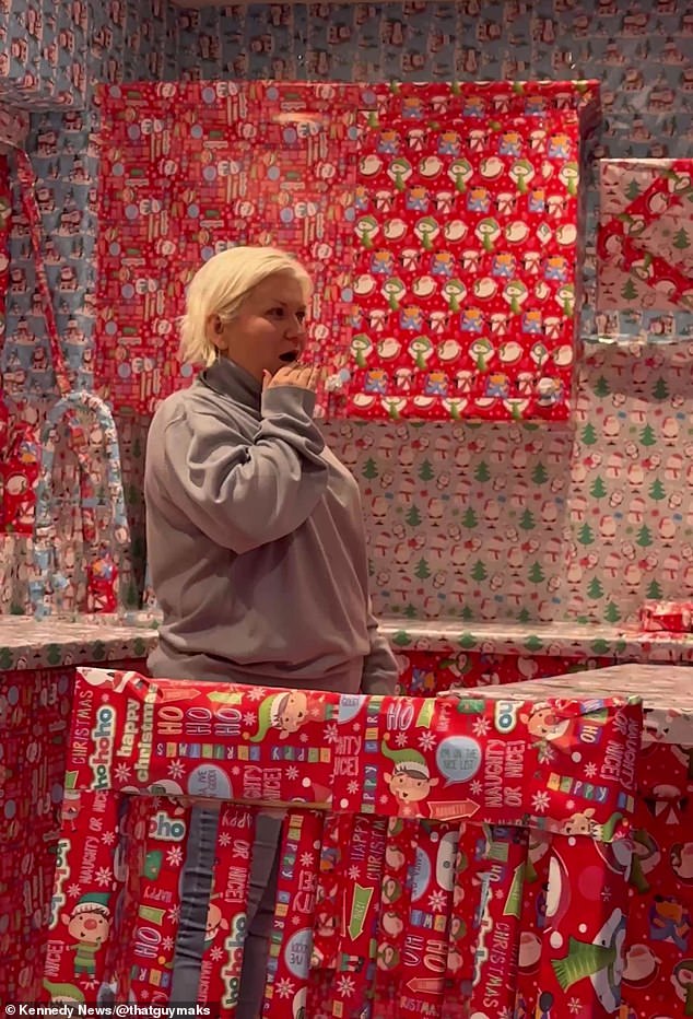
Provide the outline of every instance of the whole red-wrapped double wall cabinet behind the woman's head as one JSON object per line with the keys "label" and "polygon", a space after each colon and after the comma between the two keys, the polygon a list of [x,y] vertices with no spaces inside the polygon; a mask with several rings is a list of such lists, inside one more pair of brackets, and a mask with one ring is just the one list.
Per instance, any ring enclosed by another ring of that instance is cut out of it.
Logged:
{"label": "whole red-wrapped double wall cabinet behind the woman's head", "polygon": [[[99,93],[96,377],[151,413],[186,379],[202,260],[291,249],[316,282],[319,406],[356,418],[571,417],[582,141],[596,82],[220,82]],[[113,338],[118,336],[119,344]]]}

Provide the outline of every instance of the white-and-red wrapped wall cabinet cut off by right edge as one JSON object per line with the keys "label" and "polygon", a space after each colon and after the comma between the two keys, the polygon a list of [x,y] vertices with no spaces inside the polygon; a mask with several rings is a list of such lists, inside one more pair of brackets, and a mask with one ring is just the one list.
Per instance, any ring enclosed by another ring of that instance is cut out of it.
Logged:
{"label": "white-and-red wrapped wall cabinet cut off by right edge", "polygon": [[601,160],[600,311],[693,309],[692,160]]}

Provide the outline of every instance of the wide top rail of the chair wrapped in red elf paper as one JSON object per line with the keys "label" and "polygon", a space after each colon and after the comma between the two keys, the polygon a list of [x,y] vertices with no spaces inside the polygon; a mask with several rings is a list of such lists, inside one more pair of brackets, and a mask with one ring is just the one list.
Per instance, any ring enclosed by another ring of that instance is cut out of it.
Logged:
{"label": "wide top rail of the chair wrapped in red elf paper", "polygon": [[[551,819],[539,827],[562,830],[573,817],[573,790],[569,782],[567,796],[563,786],[549,792],[549,784],[577,743],[582,764],[594,763],[600,776],[591,790],[594,823],[610,824],[613,836],[627,830],[633,809],[630,756],[623,768],[618,761],[601,768],[610,741],[622,737],[609,702],[599,699],[585,705],[508,701],[506,708],[485,698],[198,688],[90,668],[80,670],[75,698],[78,717],[103,733],[103,760],[72,757],[70,768],[84,787],[489,823],[541,818],[543,808],[537,813],[531,807],[536,798],[551,804]],[[636,719],[635,705],[622,711]],[[486,746],[489,733],[497,741]],[[189,742],[192,735],[201,750]],[[200,754],[214,763],[196,763]],[[172,759],[180,760],[175,780]],[[621,811],[615,821],[614,811]]]}

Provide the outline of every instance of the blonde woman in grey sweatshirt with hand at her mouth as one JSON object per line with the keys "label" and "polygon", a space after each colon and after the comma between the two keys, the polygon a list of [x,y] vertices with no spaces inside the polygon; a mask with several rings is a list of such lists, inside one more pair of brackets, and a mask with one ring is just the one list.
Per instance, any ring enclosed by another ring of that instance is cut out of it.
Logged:
{"label": "blonde woman in grey sweatshirt with hand at her mouth", "polygon": [[[153,676],[392,693],[371,611],[359,488],[313,420],[320,368],[302,363],[310,280],[274,248],[237,247],[197,272],[184,361],[203,365],[152,421],[148,555],[163,612]],[[260,1014],[281,820],[256,834],[237,1019]],[[173,998],[196,1002],[216,815],[196,810],[183,874]]]}

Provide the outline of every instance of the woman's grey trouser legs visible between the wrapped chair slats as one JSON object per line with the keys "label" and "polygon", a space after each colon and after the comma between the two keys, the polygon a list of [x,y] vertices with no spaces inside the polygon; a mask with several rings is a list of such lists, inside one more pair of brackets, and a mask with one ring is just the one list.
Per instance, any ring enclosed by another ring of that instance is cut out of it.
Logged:
{"label": "woman's grey trouser legs visible between the wrapped chair slats", "polygon": [[[180,923],[171,993],[171,1002],[176,1005],[198,1000],[218,825],[219,813],[215,810],[192,808],[188,855],[181,877]],[[262,1009],[277,897],[281,827],[281,818],[258,815],[250,863],[247,934],[236,1019],[257,1019]]]}

